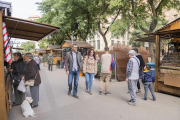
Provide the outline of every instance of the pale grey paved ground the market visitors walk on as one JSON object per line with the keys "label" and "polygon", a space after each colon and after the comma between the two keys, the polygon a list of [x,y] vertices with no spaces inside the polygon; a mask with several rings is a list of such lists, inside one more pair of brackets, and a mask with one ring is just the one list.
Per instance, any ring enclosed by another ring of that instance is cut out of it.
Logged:
{"label": "pale grey paved ground the market visitors walk on", "polygon": [[[137,95],[137,106],[130,106],[127,100],[126,82],[111,82],[111,95],[99,95],[99,80],[93,81],[92,93],[85,92],[85,78],[80,77],[78,95],[80,99],[68,96],[67,75],[53,66],[53,71],[41,66],[40,102],[34,108],[36,117],[25,118],[21,107],[13,107],[9,120],[180,120],[180,98],[155,93],[157,101],[143,101],[144,90]],[[142,87],[142,85],[141,85]],[[104,93],[104,91],[103,91]],[[29,94],[27,93],[27,96]]]}

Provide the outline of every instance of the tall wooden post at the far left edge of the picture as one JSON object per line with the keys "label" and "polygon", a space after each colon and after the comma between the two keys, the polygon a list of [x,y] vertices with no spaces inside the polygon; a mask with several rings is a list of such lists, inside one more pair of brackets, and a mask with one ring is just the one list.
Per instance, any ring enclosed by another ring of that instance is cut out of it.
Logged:
{"label": "tall wooden post at the far left edge of the picture", "polygon": [[7,120],[7,110],[5,101],[5,83],[4,83],[4,54],[3,54],[3,32],[2,32],[2,14],[0,10],[0,120]]}

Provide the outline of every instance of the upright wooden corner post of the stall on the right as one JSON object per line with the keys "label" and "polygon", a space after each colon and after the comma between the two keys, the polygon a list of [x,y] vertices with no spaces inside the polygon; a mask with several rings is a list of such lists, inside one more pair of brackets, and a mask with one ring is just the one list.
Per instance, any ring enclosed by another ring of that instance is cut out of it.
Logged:
{"label": "upright wooden corner post of the stall on the right", "polygon": [[160,38],[156,35],[156,67],[155,67],[155,92],[158,91],[158,79],[159,79],[159,60],[160,60]]}

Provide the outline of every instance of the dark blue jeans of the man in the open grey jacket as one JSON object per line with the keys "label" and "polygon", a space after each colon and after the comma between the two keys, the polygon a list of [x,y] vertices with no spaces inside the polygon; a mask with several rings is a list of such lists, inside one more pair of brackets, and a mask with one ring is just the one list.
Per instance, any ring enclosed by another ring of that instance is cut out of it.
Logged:
{"label": "dark blue jeans of the man in the open grey jacket", "polygon": [[77,95],[77,89],[78,89],[78,82],[79,82],[79,72],[80,71],[72,71],[68,75],[68,85],[69,85],[69,91],[72,90],[72,82],[74,78],[74,88],[73,88],[73,95]]}

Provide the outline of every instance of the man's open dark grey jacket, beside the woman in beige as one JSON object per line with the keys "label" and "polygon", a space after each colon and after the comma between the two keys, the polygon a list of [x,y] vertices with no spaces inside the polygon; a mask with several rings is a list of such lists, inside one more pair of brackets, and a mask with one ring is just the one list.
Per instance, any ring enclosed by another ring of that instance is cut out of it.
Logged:
{"label": "man's open dark grey jacket, beside the woman in beige", "polygon": [[[82,71],[83,60],[82,60],[80,52],[76,52],[76,60],[77,60],[78,69],[80,71]],[[73,55],[72,55],[72,51],[66,53],[65,67],[66,67],[66,71],[69,71],[69,73],[72,72],[72,68],[73,68]]]}

